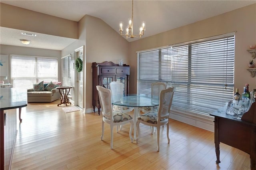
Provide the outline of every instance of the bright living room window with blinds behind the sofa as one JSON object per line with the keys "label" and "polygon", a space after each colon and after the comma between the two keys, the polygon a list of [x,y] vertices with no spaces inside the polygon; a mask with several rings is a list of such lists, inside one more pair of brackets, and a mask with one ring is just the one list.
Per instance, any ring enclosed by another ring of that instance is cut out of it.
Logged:
{"label": "bright living room window with blinds behind the sofa", "polygon": [[33,88],[40,81],[58,81],[58,59],[11,55],[11,83],[15,88]]}

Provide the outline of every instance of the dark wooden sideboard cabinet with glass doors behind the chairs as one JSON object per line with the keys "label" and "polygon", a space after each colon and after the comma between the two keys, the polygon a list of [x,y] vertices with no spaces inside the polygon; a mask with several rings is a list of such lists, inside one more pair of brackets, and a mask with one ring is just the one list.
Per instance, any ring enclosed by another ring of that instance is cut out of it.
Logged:
{"label": "dark wooden sideboard cabinet with glass doors behind the chairs", "polygon": [[96,85],[109,89],[109,83],[112,81],[122,82],[124,84],[124,94],[129,94],[129,75],[130,66],[126,64],[119,66],[112,61],[92,63],[92,106],[94,112],[95,107],[97,107],[100,115],[100,101]]}

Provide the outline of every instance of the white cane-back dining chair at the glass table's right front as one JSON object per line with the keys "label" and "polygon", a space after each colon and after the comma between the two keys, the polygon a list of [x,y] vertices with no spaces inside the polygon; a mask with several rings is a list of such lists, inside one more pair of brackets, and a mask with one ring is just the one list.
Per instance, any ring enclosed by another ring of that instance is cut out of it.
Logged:
{"label": "white cane-back dining chair at the glass table's right front", "polygon": [[168,89],[162,90],[160,92],[160,99],[159,99],[159,108],[158,112],[148,112],[140,115],[138,117],[136,127],[138,131],[138,138],[136,142],[140,138],[140,123],[144,125],[148,125],[150,127],[156,127],[157,130],[157,151],[159,151],[159,136],[160,136],[160,126],[167,125],[167,139],[168,143],[170,143],[169,138],[169,115],[170,115],[170,108],[172,105],[172,98],[174,94],[175,87],[169,87]]}

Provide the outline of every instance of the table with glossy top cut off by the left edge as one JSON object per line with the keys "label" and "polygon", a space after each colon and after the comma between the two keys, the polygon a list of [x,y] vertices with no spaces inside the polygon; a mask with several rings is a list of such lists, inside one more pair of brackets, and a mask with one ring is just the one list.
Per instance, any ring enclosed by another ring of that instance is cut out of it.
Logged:
{"label": "table with glossy top cut off by the left edge", "polygon": [[26,106],[27,90],[0,88],[0,170],[10,169],[17,134],[17,109],[20,119],[21,108]]}

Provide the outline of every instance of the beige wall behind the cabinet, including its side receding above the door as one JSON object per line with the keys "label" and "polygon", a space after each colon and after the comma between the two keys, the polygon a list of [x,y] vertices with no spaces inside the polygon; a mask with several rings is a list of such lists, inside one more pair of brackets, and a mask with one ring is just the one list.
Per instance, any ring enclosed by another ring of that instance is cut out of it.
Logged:
{"label": "beige wall behind the cabinet, including its side receding above the door", "polygon": [[129,43],[99,18],[86,15],[78,22],[79,38],[62,50],[62,57],[84,45],[84,107],[92,108],[93,62],[124,59],[129,64]]}

